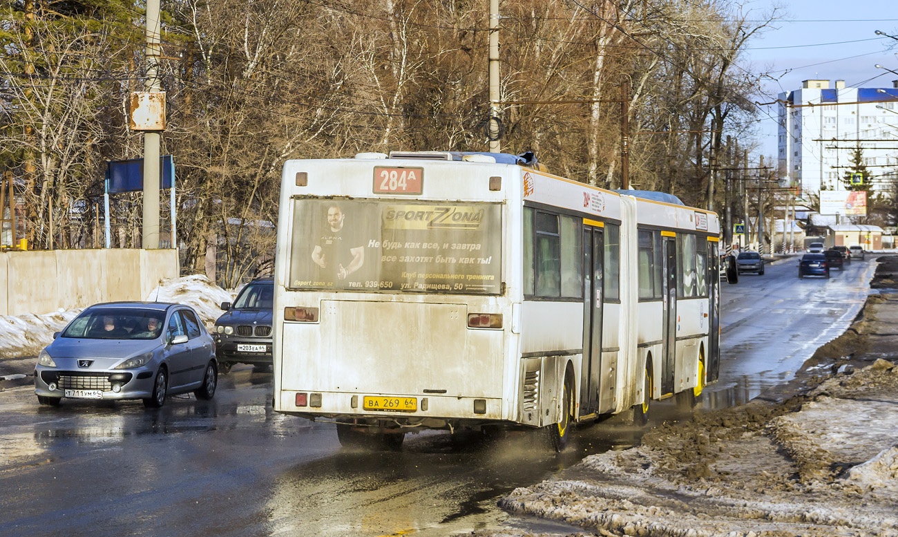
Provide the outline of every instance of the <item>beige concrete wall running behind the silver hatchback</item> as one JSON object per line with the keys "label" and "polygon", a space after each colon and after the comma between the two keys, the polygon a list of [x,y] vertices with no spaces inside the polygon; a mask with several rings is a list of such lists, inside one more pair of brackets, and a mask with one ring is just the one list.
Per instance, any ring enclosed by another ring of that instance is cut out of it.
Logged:
{"label": "beige concrete wall running behind the silver hatchback", "polygon": [[0,315],[144,300],[160,280],[179,275],[173,249],[2,251]]}

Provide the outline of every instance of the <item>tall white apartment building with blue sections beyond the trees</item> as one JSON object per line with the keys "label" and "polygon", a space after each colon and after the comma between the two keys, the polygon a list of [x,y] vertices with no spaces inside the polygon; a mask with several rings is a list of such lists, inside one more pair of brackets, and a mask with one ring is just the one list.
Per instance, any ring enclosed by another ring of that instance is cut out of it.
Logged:
{"label": "tall white apartment building with blue sections beyond the trees", "polygon": [[875,191],[898,180],[898,80],[889,88],[850,88],[806,80],[779,93],[779,177],[808,194],[845,189],[855,147]]}

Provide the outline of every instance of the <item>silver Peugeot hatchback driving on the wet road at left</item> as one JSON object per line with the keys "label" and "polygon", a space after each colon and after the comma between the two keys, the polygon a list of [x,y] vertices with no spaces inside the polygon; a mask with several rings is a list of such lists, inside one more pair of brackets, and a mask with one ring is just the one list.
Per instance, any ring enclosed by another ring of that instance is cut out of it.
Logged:
{"label": "silver Peugeot hatchback driving on the wet road at left", "polygon": [[94,304],[54,334],[34,369],[34,392],[50,406],[142,399],[159,408],[170,394],[212,399],[217,384],[215,342],[184,304]]}

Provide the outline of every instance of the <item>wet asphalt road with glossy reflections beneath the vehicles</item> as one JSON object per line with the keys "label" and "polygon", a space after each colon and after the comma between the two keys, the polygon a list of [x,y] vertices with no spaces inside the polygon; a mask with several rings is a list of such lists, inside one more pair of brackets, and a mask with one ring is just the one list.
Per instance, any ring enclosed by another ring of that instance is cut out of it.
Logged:
{"label": "wet asphalt road with glossy reflections beneath the vehicles", "polygon": [[[788,380],[844,330],[867,295],[875,262],[830,280],[797,279],[797,259],[723,284],[721,379],[703,408],[747,401]],[[33,358],[4,361],[29,373]],[[0,392],[0,535],[453,535],[521,527],[573,531],[512,517],[497,499],[583,456],[638,442],[614,418],[581,427],[550,453],[533,434],[497,445],[432,432],[401,453],[340,448],[328,424],[271,411],[271,374],[236,366],[213,401],[65,401],[41,408],[30,386]],[[677,418],[672,403],[658,419]]]}

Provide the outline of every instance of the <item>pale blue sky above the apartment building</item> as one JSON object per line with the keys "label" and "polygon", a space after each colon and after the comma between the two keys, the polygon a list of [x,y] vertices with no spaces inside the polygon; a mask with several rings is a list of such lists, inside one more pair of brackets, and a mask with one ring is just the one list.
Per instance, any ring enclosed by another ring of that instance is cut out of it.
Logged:
{"label": "pale blue sky above the apartment building", "polygon": [[[791,92],[808,79],[844,80],[846,87],[893,87],[898,75],[898,40],[876,35],[883,31],[898,38],[898,4],[886,0],[753,0],[744,4],[750,20],[762,19],[781,6],[779,22],[755,38],[740,64],[753,72],[768,72],[765,94],[758,102],[775,101],[779,92]],[[831,88],[834,85],[830,86]],[[762,101],[763,100],[763,101]],[[777,154],[777,109],[762,107],[760,142],[767,157]]]}

